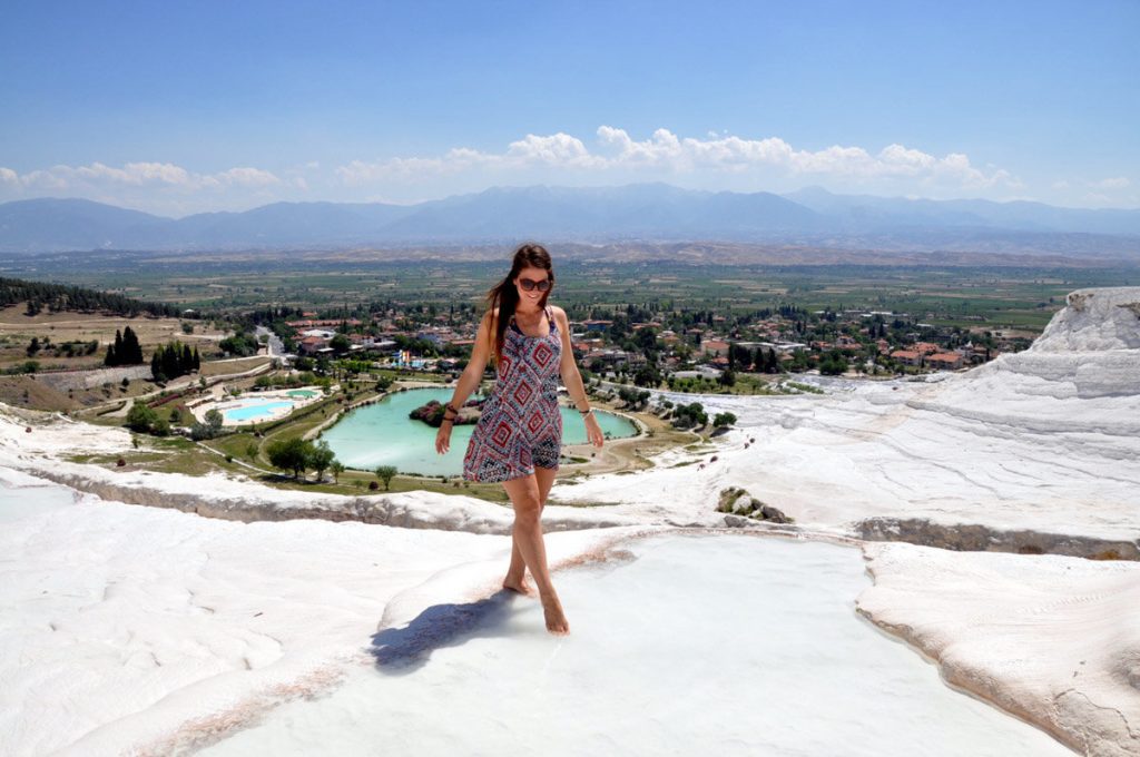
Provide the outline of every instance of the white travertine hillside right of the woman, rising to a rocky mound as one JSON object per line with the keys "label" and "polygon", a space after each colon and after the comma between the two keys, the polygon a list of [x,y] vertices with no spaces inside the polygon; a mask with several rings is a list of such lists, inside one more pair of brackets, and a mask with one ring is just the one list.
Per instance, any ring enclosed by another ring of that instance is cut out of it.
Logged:
{"label": "white travertine hillside right of the woman, rising to a rocky mound", "polygon": [[820,528],[921,518],[1134,542],[1138,311],[1140,288],[1076,292],[1033,349],[922,382],[821,381],[825,396],[671,396],[731,410],[739,428],[700,456],[673,453],[642,475],[560,483],[552,497],[712,523],[722,520],[717,494],[736,486]]}

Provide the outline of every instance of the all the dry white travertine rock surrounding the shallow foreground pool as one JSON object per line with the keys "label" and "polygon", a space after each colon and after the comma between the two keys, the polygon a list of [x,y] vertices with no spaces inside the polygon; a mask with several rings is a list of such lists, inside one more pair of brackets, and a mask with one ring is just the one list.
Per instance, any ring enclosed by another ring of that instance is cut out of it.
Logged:
{"label": "all the dry white travertine rock surrounding the shallow foreground pool", "polygon": [[[807,537],[876,523],[879,538],[909,526],[929,543],[980,529],[1005,551],[1013,532],[1044,552],[1140,544],[1140,288],[1075,292],[1032,349],[963,374],[815,381],[824,396],[702,397],[739,417],[715,448],[557,483],[552,562],[645,530],[723,527],[726,487]],[[377,624],[492,591],[506,564],[510,511],[470,497],[342,497],[62,459],[96,449],[130,450],[130,434],[0,407],[7,496],[50,498],[47,481],[76,491],[0,520],[5,754],[161,751],[172,734],[225,732],[328,686]],[[876,583],[860,612],[947,681],[1085,754],[1140,754],[1138,563],[863,548]]]}

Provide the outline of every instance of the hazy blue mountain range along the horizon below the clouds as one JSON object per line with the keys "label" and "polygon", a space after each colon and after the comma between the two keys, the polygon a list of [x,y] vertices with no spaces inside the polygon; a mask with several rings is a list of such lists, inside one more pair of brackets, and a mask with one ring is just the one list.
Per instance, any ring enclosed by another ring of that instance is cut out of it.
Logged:
{"label": "hazy blue mountain range along the horizon below the clouds", "polygon": [[198,213],[181,219],[84,200],[0,204],[0,251],[5,252],[494,243],[520,238],[788,241],[826,246],[881,244],[885,249],[988,245],[994,251],[1072,247],[1078,254],[1140,257],[1140,211],[834,195],[820,188],[787,196],[712,193],[666,184],[494,187],[407,206],[275,203],[242,213]]}

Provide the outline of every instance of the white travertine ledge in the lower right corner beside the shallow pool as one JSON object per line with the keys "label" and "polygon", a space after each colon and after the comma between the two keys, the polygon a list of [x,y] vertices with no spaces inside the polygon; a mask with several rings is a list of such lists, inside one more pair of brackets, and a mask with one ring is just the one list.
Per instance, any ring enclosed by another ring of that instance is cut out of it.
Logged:
{"label": "white travertine ledge in the lower right corner beside the shallow pool", "polygon": [[1080,754],[1140,755],[1140,563],[864,547],[858,610]]}

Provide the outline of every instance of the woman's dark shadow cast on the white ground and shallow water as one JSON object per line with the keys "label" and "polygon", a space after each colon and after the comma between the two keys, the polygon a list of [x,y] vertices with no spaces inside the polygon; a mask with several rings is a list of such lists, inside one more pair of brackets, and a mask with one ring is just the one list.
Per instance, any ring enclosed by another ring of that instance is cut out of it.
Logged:
{"label": "woman's dark shadow cast on the white ground and shallow water", "polygon": [[500,589],[478,602],[433,604],[404,628],[373,634],[368,652],[383,673],[414,673],[427,662],[433,650],[459,646],[472,638],[505,636],[506,621],[520,611],[515,599],[524,597]]}

